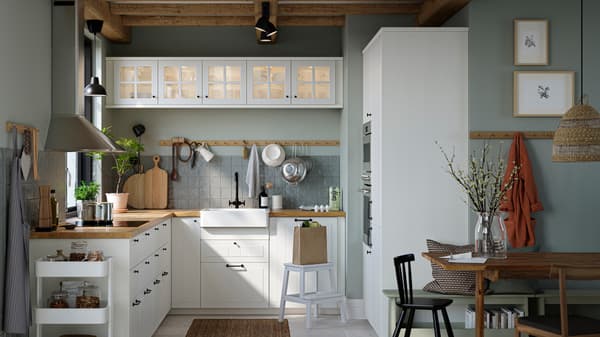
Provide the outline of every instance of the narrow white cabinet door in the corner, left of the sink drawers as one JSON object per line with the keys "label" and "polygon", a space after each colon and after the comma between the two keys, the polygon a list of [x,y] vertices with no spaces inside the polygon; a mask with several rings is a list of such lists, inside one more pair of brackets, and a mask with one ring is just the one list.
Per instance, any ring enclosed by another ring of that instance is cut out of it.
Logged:
{"label": "narrow white cabinet door in the corner, left of the sink drawers", "polygon": [[200,218],[173,218],[172,307],[200,308]]}

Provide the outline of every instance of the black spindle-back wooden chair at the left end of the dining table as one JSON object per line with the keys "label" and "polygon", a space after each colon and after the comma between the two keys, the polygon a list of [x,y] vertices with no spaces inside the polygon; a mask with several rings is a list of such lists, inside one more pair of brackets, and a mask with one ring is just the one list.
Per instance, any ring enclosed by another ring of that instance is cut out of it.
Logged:
{"label": "black spindle-back wooden chair at the left end of the dining table", "polygon": [[[431,311],[433,316],[433,330],[435,336],[440,337],[441,335],[440,323],[438,321],[438,311],[441,311],[444,325],[446,326],[446,333],[448,334],[448,337],[454,337],[452,325],[450,324],[448,312],[446,311],[446,307],[452,304],[452,300],[440,298],[413,298],[411,262],[414,260],[414,254],[405,254],[394,258],[396,282],[398,283],[398,292],[400,295],[399,299],[396,300],[396,305],[400,309],[400,318],[398,318],[398,321],[396,322],[396,328],[394,329],[392,336],[398,337],[403,326],[406,328],[404,336],[410,336],[415,311],[428,310]],[[405,325],[404,319],[407,314],[408,321]]]}

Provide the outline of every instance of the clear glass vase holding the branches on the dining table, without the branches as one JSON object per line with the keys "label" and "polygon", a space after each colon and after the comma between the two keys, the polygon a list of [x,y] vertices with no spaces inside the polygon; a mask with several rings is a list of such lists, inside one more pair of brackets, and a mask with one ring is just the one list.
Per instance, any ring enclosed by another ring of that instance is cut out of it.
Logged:
{"label": "clear glass vase holding the branches on the dining table, without the branches", "polygon": [[478,214],[473,255],[490,259],[506,258],[506,226],[499,213]]}

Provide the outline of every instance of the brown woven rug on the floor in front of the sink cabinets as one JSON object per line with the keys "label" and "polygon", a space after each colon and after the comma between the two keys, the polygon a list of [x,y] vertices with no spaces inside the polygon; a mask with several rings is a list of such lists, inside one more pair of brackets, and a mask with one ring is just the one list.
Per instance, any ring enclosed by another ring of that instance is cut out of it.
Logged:
{"label": "brown woven rug on the floor in front of the sink cabinets", "polygon": [[185,337],[290,337],[287,319],[195,319]]}

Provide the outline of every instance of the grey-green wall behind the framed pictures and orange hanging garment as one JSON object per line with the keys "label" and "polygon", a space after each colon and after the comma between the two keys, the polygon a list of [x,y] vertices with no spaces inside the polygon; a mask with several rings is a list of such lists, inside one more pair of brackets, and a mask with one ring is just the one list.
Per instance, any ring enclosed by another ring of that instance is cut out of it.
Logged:
{"label": "grey-green wall behind the framed pictures and orange hanging garment", "polygon": [[[585,0],[585,91],[600,107],[600,2]],[[573,70],[579,80],[579,1],[473,0],[468,8],[470,130],[554,130],[558,118],[512,117],[514,70]],[[513,65],[513,19],[549,20],[550,65]],[[579,93],[579,85],[576,85]],[[481,141],[471,141],[473,148]],[[494,145],[497,142],[493,142]],[[511,141],[504,143],[504,148]],[[545,251],[598,251],[600,163],[553,163],[551,140],[526,141],[544,211],[537,243]]]}

